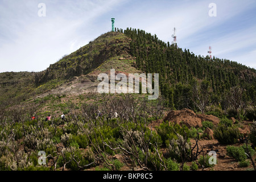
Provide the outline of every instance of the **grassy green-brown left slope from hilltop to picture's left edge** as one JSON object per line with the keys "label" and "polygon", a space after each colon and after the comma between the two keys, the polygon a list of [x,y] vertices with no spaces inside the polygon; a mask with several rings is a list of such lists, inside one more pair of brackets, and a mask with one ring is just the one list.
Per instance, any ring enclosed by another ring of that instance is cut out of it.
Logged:
{"label": "grassy green-brown left slope from hilltop to picture's left edge", "polygon": [[[76,76],[80,76],[78,81],[81,81],[84,75],[94,70],[105,71],[113,66],[115,69],[131,71],[133,60],[129,56],[129,41],[124,34],[108,32],[50,65],[45,71],[0,73],[0,105],[5,107],[31,97],[36,98],[61,85],[67,86],[76,80]],[[119,57],[124,56],[127,60],[119,60]]]}

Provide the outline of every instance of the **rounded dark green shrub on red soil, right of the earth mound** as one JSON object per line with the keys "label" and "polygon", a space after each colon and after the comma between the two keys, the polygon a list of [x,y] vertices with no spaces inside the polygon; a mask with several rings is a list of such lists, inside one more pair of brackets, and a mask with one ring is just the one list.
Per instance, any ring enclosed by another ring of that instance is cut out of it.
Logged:
{"label": "rounded dark green shrub on red soil, right of the earth mound", "polygon": [[225,125],[218,125],[213,132],[213,137],[221,144],[234,144],[240,138],[240,132],[237,127],[227,127]]}

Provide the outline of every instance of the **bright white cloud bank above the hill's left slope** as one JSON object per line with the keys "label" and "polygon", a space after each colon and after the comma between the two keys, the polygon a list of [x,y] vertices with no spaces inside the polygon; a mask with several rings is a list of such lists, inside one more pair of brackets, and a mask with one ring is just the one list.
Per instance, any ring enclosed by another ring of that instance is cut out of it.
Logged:
{"label": "bright white cloud bank above the hill's left slope", "polygon": [[86,35],[89,24],[119,3],[117,0],[46,1],[46,17],[38,16],[35,2],[20,2],[25,12],[15,11],[17,4],[7,3],[6,9],[0,8],[3,10],[0,27],[5,30],[0,34],[0,72],[43,71],[61,56],[89,42],[91,37]]}

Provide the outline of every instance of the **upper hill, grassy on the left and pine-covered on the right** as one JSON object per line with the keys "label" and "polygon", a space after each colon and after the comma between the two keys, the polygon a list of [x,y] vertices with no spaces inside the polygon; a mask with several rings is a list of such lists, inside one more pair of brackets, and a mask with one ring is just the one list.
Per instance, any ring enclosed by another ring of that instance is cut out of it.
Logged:
{"label": "upper hill, grassy on the left and pine-covered on the right", "polygon": [[[243,106],[255,105],[255,69],[216,57],[209,60],[209,57],[196,56],[143,30],[117,30],[64,56],[45,71],[1,73],[0,104],[6,106],[9,105],[6,101],[19,103],[48,94],[95,92],[97,75],[114,68],[126,73],[159,73],[160,92],[167,106],[173,109],[188,107],[204,111],[197,103],[200,101],[193,100],[195,91],[201,96],[209,95],[204,107],[218,104],[222,109],[234,107],[236,103],[232,105],[228,101],[236,87],[242,90]],[[10,74],[18,76],[12,80]]]}

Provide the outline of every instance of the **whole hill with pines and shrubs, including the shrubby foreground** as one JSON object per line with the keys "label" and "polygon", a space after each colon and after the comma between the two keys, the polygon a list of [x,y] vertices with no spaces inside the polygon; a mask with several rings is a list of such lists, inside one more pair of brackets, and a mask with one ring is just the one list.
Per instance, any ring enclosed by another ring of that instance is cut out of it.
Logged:
{"label": "whole hill with pines and shrubs, including the shrubby foreground", "polygon": [[[110,69],[159,73],[161,96],[98,93]],[[255,169],[255,74],[117,28],[42,72],[0,73],[0,170]]]}

